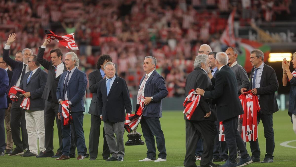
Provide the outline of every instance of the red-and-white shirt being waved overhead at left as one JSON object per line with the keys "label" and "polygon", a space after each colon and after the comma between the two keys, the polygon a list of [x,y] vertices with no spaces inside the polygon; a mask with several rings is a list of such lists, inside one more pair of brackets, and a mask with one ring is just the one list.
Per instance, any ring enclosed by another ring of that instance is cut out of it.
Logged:
{"label": "red-and-white shirt being waved overhead at left", "polygon": [[45,30],[45,33],[47,34],[47,39],[55,40],[68,49],[78,50],[78,46],[74,40],[74,33],[63,35],[62,37],[54,34],[54,32],[50,30]]}

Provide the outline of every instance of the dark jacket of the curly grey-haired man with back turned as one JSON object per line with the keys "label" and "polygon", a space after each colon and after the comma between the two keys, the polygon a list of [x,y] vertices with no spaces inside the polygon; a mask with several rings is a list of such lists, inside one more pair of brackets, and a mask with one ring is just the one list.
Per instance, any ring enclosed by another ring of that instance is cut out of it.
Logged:
{"label": "dark jacket of the curly grey-haired man with back turned", "polygon": [[[213,85],[210,78],[207,76],[207,73],[205,72],[205,70],[201,68],[196,68],[194,71],[192,71],[188,75],[186,79],[185,96],[188,96],[188,93],[191,89],[195,90],[196,88],[204,89],[205,91],[213,89]],[[204,116],[210,111],[211,111],[210,117],[205,118]],[[185,114],[184,114],[184,119],[187,119]],[[193,121],[217,120],[215,105],[212,105],[212,99],[205,99],[202,96],[190,120],[193,120]]]}

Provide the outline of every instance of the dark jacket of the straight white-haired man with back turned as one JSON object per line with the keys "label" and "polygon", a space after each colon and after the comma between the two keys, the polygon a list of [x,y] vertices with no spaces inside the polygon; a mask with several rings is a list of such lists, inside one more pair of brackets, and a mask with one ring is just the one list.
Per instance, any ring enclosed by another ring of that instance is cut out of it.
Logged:
{"label": "dark jacket of the straight white-haired man with back turned", "polygon": [[214,99],[218,121],[243,114],[242,104],[237,96],[237,79],[230,67],[223,66],[211,81],[215,89],[205,91],[204,97]]}

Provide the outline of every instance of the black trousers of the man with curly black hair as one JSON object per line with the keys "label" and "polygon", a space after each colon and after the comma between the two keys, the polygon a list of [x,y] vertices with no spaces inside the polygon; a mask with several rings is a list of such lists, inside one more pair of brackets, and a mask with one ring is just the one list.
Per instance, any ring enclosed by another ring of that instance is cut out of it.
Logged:
{"label": "black trousers of the man with curly black hair", "polygon": [[[100,127],[102,119],[100,116],[91,115],[91,129],[89,132],[89,156],[91,158],[98,157],[99,138],[100,138]],[[105,128],[103,128],[103,158],[110,157],[110,150],[105,137]]]}

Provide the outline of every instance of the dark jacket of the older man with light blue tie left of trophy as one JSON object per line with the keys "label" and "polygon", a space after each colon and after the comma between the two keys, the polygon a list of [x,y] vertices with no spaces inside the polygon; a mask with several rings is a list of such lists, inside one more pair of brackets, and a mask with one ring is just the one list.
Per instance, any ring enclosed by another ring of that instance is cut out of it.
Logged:
{"label": "dark jacket of the older man with light blue tie left of trophy", "polygon": [[[100,74],[101,75],[101,74]],[[103,121],[123,122],[126,113],[131,114],[131,98],[128,86],[123,78],[116,76],[107,96],[106,80],[98,83],[98,115],[102,114]]]}

